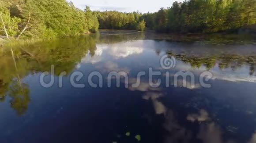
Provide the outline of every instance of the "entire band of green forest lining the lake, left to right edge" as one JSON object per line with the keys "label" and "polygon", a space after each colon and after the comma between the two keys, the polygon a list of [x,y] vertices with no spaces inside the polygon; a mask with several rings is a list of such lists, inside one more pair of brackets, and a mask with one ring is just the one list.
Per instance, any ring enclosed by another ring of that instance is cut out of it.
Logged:
{"label": "entire band of green forest lining the lake, left to right edge", "polygon": [[98,29],[224,32],[256,24],[255,0],[188,0],[155,13],[80,10],[66,0],[0,0],[0,36],[49,39]]}

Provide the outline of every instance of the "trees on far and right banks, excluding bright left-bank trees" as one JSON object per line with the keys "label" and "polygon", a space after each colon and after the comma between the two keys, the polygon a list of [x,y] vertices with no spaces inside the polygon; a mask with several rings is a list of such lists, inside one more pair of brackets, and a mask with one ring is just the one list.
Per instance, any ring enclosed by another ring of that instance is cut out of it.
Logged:
{"label": "trees on far and right banks, excluding bright left-bank trees", "polygon": [[235,31],[256,24],[256,0],[185,0],[158,12],[94,11],[100,29],[152,29],[156,32]]}

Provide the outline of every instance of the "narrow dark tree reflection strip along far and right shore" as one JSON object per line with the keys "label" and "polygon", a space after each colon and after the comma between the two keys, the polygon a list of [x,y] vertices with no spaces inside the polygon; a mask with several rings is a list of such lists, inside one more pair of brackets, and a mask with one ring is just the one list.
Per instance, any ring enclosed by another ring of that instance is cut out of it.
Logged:
{"label": "narrow dark tree reflection strip along far and right shore", "polygon": [[137,32],[132,30],[100,30],[97,35],[101,43],[117,43],[131,40],[153,39],[169,42],[203,43],[211,45],[222,44],[255,44],[255,36],[237,34],[164,34],[156,32]]}

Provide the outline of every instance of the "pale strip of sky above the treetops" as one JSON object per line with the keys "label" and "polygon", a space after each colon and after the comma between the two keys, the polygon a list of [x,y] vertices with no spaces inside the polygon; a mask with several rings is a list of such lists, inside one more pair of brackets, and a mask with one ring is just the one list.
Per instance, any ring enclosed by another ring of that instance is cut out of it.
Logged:
{"label": "pale strip of sky above the treetops", "polygon": [[156,12],[161,7],[171,7],[174,1],[183,0],[68,0],[72,1],[76,7],[84,9],[85,5],[91,10],[116,10],[122,12],[139,11],[143,13]]}

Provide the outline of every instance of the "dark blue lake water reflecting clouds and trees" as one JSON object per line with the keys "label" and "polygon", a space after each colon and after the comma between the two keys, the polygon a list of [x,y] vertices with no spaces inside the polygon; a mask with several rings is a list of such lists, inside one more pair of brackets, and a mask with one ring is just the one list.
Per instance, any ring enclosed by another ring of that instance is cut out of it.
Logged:
{"label": "dark blue lake water reflecting clouds and trees", "polygon": [[[0,51],[0,143],[256,143],[254,38],[102,31],[13,46],[15,62],[8,48]],[[161,68],[166,54],[175,68]],[[39,77],[51,65],[55,82],[45,88]],[[190,71],[196,86],[153,88],[147,75],[136,88],[107,86],[109,72],[127,72],[131,83],[150,67],[162,72],[154,81]],[[84,88],[71,85],[75,71]],[[102,88],[87,82],[94,71]],[[214,75],[211,88],[198,83],[204,71]]]}

